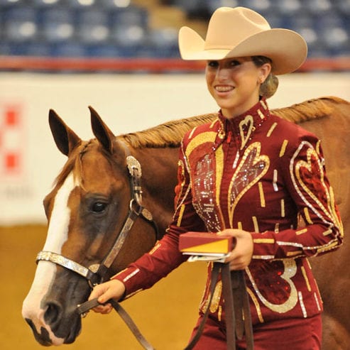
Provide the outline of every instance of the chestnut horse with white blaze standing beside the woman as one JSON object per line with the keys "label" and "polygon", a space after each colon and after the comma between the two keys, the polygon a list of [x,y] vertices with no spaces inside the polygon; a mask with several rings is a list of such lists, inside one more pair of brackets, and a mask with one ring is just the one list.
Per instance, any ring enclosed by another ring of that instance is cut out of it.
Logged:
{"label": "chestnut horse with white blaze standing beside the woman", "polygon": [[[70,344],[82,327],[77,305],[160,239],[173,217],[182,136],[216,113],[168,121],[115,136],[92,107],[95,138],[82,141],[50,110],[49,124],[67,162],[45,197],[48,234],[22,314],[42,345]],[[322,97],[274,109],[321,140],[344,231],[350,229],[350,103]],[[141,181],[142,180],[142,181]],[[312,258],[324,299],[323,350],[350,344],[350,245]]]}

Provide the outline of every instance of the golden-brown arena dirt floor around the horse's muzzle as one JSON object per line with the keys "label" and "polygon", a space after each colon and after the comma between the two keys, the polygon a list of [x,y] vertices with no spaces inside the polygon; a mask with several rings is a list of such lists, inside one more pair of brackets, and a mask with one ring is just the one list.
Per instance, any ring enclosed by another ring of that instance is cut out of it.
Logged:
{"label": "golden-brown arena dirt floor around the horse's muzzle", "polygon": [[[31,288],[35,256],[43,248],[45,226],[0,227],[1,350],[45,349],[34,339],[21,316],[22,302]],[[184,263],[151,290],[123,303],[143,335],[157,350],[184,349],[197,320],[205,281],[205,263]],[[138,350],[119,315],[89,312],[82,333],[64,350]]]}

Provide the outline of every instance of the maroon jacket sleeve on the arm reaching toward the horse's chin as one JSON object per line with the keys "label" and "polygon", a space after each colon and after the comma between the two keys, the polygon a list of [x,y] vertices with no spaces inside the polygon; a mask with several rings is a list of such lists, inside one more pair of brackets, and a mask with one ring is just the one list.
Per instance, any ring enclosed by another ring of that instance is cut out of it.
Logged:
{"label": "maroon jacket sleeve on the arm reaching toward the horse's chin", "polygon": [[158,280],[165,277],[182,262],[187,260],[178,248],[179,235],[186,231],[205,231],[202,220],[192,207],[190,177],[185,166],[185,153],[180,148],[177,168],[177,185],[175,187],[175,214],[167,232],[151,251],[131,263],[128,268],[114,275],[126,288],[125,297],[151,288]]}

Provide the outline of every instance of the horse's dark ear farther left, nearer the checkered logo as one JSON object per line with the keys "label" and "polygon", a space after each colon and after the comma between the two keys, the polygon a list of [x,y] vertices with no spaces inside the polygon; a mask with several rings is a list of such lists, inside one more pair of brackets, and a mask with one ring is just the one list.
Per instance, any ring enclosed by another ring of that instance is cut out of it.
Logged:
{"label": "horse's dark ear farther left, nearer the checkered logo", "polygon": [[80,145],[82,140],[60,119],[60,116],[53,109],[49,111],[48,121],[56,146],[64,155],[70,155],[72,150]]}

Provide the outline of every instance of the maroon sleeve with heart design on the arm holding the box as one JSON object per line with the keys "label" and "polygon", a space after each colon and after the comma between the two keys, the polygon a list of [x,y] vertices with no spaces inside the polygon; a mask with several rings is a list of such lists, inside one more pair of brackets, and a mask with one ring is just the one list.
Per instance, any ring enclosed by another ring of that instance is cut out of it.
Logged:
{"label": "maroon sleeve with heart design on the arm holding the box", "polygon": [[280,173],[305,226],[253,233],[253,258],[317,256],[341,246],[343,228],[319,140],[306,133],[289,146]]}

